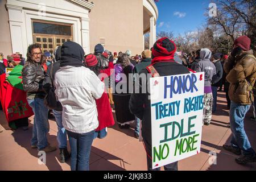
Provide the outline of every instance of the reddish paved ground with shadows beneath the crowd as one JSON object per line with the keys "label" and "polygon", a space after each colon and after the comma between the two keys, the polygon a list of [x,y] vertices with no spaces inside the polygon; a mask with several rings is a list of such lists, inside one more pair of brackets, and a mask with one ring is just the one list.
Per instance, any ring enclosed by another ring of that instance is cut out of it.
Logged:
{"label": "reddish paved ground with shadows beneath the crowd", "polygon": [[[245,130],[250,143],[256,149],[256,122],[250,121],[251,110],[246,115]],[[241,166],[235,162],[236,155],[222,149],[230,141],[229,110],[226,108],[225,93],[218,94],[217,113],[210,126],[203,126],[201,152],[179,162],[179,170],[256,170],[256,163]],[[30,148],[32,117],[28,131],[10,130],[5,116],[0,111],[0,170],[70,170],[69,162],[61,164],[59,151],[47,154],[46,165],[38,164],[38,151]],[[49,121],[49,143],[57,146],[55,121]],[[1,129],[0,129],[1,130]],[[217,153],[217,164],[212,164],[209,152]],[[209,163],[210,161],[210,163]],[[146,152],[143,144],[134,138],[133,129],[121,130],[117,125],[108,129],[108,136],[93,142],[90,170],[141,171],[146,170]],[[162,168],[163,169],[163,168]]]}

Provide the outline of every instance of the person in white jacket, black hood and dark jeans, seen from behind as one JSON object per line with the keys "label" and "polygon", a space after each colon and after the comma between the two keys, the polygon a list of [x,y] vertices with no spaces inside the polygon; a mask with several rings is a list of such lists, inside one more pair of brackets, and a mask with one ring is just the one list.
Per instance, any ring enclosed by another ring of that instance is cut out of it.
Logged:
{"label": "person in white jacket, black hood and dark jeans, seen from behind", "polygon": [[102,96],[104,83],[82,60],[84,50],[75,42],[61,47],[60,69],[55,74],[55,93],[63,106],[63,126],[71,146],[71,170],[89,170],[90,149],[98,127],[95,99]]}

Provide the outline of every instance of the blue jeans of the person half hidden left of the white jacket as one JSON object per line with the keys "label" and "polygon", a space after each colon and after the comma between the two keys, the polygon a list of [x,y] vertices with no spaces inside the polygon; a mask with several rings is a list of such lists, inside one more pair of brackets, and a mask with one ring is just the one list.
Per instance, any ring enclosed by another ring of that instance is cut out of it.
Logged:
{"label": "blue jeans of the person half hidden left of the white jacket", "polygon": [[57,141],[59,143],[59,148],[67,147],[67,131],[62,124],[62,111],[52,110],[55,116],[55,120],[58,126]]}

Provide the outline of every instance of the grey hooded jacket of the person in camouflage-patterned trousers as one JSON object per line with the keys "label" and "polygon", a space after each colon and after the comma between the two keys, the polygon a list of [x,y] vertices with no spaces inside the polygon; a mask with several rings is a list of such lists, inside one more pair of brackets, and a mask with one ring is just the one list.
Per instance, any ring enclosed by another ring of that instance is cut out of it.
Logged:
{"label": "grey hooded jacket of the person in camouflage-patterned trousers", "polygon": [[210,61],[210,56],[212,56],[212,53],[209,49],[201,49],[201,61],[197,63],[195,69],[196,72],[204,72],[204,86],[211,86],[212,77],[216,75],[216,68]]}

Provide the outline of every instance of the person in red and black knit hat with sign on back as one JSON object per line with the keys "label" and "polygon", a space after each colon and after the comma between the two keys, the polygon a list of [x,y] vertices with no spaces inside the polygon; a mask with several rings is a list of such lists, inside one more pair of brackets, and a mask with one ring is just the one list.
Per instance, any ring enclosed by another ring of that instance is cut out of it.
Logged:
{"label": "person in red and black knit hat with sign on back", "polygon": [[[154,77],[157,75],[170,76],[189,73],[184,65],[174,61],[175,52],[176,45],[172,40],[168,38],[159,39],[152,47],[152,64],[146,69],[142,69],[140,75],[147,75],[149,73]],[[129,107],[131,113],[136,115],[139,119],[142,119],[142,137],[147,153],[147,169],[148,171],[160,171],[160,167],[152,167],[151,100],[149,98],[150,94],[148,93],[148,90],[146,93],[142,92],[142,85],[149,88],[148,84],[150,84],[149,78],[147,78],[146,82],[140,80],[139,93],[135,91],[131,95]],[[168,171],[177,171],[177,162],[165,165],[164,169]]]}

